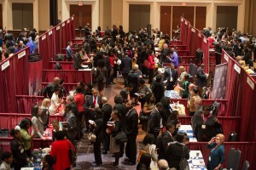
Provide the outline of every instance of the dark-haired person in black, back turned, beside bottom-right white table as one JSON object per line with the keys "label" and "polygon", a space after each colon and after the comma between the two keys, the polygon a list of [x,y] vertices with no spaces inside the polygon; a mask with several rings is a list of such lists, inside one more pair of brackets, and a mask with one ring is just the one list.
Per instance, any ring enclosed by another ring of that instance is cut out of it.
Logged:
{"label": "dark-haired person in black, back turned, beside bottom-right white table", "polygon": [[168,156],[166,161],[168,161],[169,167],[182,170],[179,168],[179,162],[182,157],[187,160],[189,159],[189,148],[183,144],[183,133],[177,133],[174,139],[176,142],[169,143],[166,149],[166,156]]}

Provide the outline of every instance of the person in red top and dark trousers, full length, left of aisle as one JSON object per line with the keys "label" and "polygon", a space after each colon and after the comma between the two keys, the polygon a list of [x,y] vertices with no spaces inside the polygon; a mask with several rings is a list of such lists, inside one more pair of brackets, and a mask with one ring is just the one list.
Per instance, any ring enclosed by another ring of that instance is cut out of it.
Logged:
{"label": "person in red top and dark trousers, full length, left of aisle", "polygon": [[83,88],[76,88],[76,94],[74,96],[74,100],[78,106],[78,115],[76,115],[78,129],[77,129],[77,139],[80,140],[83,136],[82,128],[84,127],[84,94],[82,94]]}

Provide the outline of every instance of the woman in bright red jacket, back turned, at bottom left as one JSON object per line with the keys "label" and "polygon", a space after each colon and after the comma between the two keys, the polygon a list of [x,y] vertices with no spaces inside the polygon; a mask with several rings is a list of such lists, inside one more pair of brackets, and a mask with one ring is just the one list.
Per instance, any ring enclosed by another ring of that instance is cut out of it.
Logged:
{"label": "woman in bright red jacket, back turned, at bottom left", "polygon": [[55,133],[55,142],[51,144],[51,150],[49,152],[50,156],[55,158],[54,169],[60,170],[70,170],[71,160],[69,158],[69,148],[75,150],[73,144],[65,138],[65,133],[63,131],[58,131]]}

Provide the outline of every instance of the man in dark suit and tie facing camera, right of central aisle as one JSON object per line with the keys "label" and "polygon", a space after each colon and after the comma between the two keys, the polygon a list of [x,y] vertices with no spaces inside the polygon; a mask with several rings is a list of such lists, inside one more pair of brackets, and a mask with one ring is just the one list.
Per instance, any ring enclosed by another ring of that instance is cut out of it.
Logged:
{"label": "man in dark suit and tie facing camera, right of central aisle", "polygon": [[164,72],[164,81],[166,81],[166,90],[174,90],[177,86],[177,70],[174,69],[173,63]]}

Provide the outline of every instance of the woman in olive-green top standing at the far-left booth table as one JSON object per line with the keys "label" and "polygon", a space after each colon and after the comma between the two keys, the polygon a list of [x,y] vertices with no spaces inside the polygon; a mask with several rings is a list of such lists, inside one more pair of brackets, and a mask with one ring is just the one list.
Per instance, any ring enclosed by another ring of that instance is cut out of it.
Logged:
{"label": "woman in olive-green top standing at the far-left booth table", "polygon": [[32,127],[31,120],[28,118],[22,119],[22,121],[20,122],[20,135],[21,135],[22,143],[24,144],[26,156],[31,156],[31,142],[32,142],[32,139],[34,139],[34,137],[38,133],[38,129],[35,128],[33,129],[34,133],[32,133],[32,135],[29,135],[28,129],[30,127]]}

